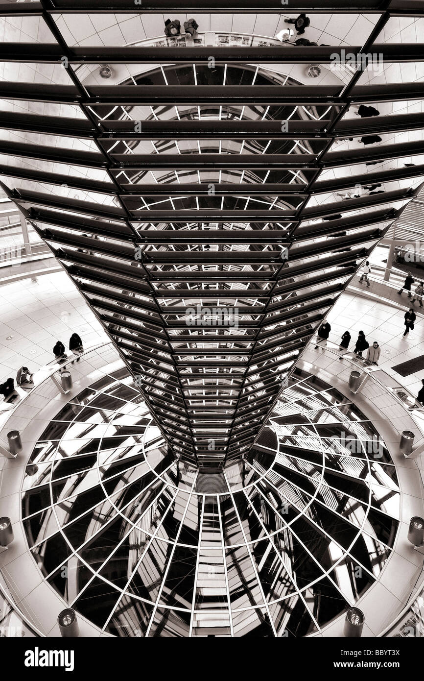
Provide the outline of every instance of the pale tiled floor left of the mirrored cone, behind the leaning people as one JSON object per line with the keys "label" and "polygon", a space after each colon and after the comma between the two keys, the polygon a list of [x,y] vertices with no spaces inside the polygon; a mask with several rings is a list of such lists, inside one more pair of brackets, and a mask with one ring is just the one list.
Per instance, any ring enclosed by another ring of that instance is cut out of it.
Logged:
{"label": "pale tiled floor left of the mirrored cone, behind the leaning people", "polygon": [[84,345],[107,336],[63,272],[0,287],[0,381],[16,377],[22,364],[35,371],[54,359],[53,346],[78,333]]}

